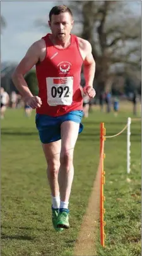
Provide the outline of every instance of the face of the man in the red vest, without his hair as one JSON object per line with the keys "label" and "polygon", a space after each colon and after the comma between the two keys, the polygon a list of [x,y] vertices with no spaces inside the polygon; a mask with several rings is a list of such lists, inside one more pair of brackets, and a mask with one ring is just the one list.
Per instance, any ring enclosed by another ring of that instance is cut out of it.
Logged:
{"label": "face of the man in the red vest, without his hair", "polygon": [[52,15],[49,27],[52,34],[59,41],[64,41],[68,38],[73,28],[73,18],[69,13],[61,13],[59,15]]}

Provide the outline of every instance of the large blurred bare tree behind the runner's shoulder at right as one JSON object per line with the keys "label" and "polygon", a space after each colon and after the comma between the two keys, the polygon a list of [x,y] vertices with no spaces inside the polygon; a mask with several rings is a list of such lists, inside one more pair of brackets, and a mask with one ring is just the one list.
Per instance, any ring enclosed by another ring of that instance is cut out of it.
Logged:
{"label": "large blurred bare tree behind the runner's shoulder at right", "polygon": [[132,2],[69,3],[80,36],[92,44],[99,90],[109,90],[117,69],[141,67],[141,17],[134,15]]}

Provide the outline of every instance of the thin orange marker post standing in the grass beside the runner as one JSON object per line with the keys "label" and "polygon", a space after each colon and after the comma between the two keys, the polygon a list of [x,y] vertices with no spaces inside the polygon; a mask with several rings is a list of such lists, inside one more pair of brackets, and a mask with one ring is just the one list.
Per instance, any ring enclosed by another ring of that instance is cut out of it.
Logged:
{"label": "thin orange marker post standing in the grass beside the runner", "polygon": [[105,184],[105,172],[104,172],[104,141],[105,141],[105,128],[104,123],[100,123],[100,243],[105,246],[105,232],[104,232],[104,184]]}

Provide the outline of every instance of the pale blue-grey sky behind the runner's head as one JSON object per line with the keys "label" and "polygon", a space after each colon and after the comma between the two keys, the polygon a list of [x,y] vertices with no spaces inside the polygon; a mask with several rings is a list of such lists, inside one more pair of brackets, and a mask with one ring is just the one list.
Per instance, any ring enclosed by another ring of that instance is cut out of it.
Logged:
{"label": "pale blue-grey sky behind the runner's head", "polygon": [[61,1],[1,1],[1,15],[6,20],[1,34],[1,62],[20,62],[30,45],[50,31],[48,25],[47,29],[37,27],[35,20],[44,18],[48,22],[49,11],[57,4]]}

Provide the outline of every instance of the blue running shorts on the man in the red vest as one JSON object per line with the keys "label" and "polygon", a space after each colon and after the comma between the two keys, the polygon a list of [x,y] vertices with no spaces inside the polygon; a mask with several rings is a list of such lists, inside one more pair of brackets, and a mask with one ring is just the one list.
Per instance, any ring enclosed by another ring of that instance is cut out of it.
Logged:
{"label": "blue running shorts on the man in the red vest", "polygon": [[80,123],[78,133],[83,130],[81,119],[83,111],[71,111],[62,116],[52,117],[45,114],[36,114],[35,123],[42,143],[47,144],[61,139],[61,124],[64,121]]}

